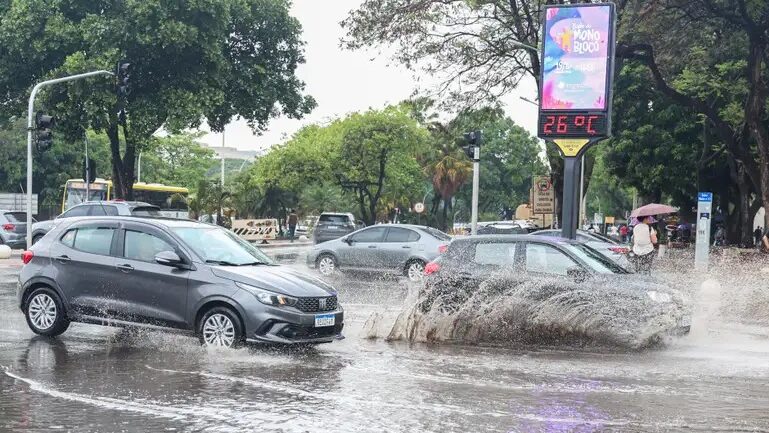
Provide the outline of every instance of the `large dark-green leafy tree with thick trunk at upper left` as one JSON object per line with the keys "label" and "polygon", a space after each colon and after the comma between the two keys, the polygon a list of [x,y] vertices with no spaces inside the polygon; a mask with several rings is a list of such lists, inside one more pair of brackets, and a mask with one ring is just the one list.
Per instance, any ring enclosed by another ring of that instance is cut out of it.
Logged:
{"label": "large dark-green leafy tree with thick trunk at upper left", "polygon": [[259,132],[273,116],[299,118],[314,107],[295,76],[303,43],[288,10],[288,0],[2,2],[0,117],[22,113],[35,82],[131,62],[124,104],[108,78],[60,85],[42,98],[60,132],[106,133],[115,194],[130,199],[137,152],[161,127],[205,120],[221,131],[239,116]]}

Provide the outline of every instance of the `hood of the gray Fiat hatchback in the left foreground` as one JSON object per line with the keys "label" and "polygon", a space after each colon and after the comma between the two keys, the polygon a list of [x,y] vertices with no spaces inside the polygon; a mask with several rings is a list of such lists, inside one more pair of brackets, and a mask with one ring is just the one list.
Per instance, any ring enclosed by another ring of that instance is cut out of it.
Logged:
{"label": "hood of the gray Fiat hatchback in the left foreground", "polygon": [[295,297],[335,295],[323,281],[283,266],[213,266],[217,277]]}

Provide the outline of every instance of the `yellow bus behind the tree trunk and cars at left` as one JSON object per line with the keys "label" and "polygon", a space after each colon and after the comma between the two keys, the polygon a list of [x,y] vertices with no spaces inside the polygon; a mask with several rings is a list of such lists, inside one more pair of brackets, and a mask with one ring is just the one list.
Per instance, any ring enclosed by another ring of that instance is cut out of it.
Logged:
{"label": "yellow bus behind the tree trunk and cars at left", "polygon": [[[61,211],[64,212],[76,204],[85,201],[113,200],[112,181],[97,178],[88,186],[88,198],[85,197],[83,179],[69,179],[64,185]],[[160,208],[160,213],[173,218],[188,218],[187,188],[168,186],[160,183],[137,182],[134,184],[134,200],[149,203]]]}

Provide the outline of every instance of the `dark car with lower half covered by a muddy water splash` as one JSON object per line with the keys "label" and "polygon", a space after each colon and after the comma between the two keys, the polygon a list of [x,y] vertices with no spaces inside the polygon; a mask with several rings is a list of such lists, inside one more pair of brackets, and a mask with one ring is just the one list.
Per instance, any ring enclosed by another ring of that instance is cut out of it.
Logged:
{"label": "dark car with lower half covered by a muddy water splash", "polygon": [[[573,308],[586,318],[585,326],[604,326],[618,338],[645,340],[654,337],[647,332],[660,327],[665,335],[689,331],[691,311],[680,291],[654,277],[630,274],[581,241],[531,235],[456,239],[427,265],[425,275],[419,303],[423,313],[440,308],[450,314],[466,307],[465,302],[486,308],[483,299],[474,298],[483,291],[490,299],[509,296],[533,311],[567,315]],[[575,317],[566,322],[576,326],[568,321]],[[612,329],[615,325],[622,329]]]}

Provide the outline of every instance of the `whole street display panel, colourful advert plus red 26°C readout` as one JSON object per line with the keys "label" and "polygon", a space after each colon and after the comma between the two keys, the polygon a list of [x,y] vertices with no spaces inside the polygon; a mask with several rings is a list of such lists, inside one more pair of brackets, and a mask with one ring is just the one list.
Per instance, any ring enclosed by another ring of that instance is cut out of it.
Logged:
{"label": "whole street display panel, colourful advert plus red 26\u00b0C readout", "polygon": [[551,5],[544,18],[538,136],[611,136],[614,4]]}

